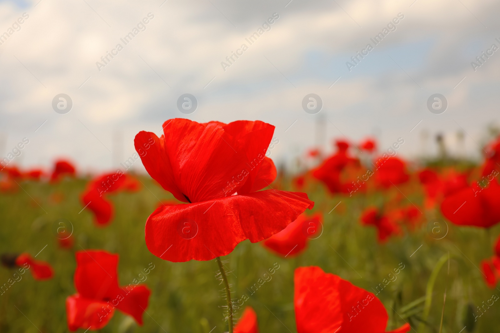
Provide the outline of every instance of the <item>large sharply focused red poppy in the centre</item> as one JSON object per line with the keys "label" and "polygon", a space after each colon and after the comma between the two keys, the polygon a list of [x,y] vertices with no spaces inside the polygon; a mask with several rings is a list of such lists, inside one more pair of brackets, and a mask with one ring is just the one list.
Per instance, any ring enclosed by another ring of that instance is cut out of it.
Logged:
{"label": "large sharply focused red poppy in the centre", "polygon": [[[314,205],[304,193],[260,189],[276,177],[265,157],[274,126],[262,121],[197,123],[171,119],[163,135],[141,131],[135,149],[149,175],[177,200],[147,219],[145,241],[172,262],[211,260],[246,239],[255,243],[283,230]],[[170,251],[167,251],[170,249]]]}

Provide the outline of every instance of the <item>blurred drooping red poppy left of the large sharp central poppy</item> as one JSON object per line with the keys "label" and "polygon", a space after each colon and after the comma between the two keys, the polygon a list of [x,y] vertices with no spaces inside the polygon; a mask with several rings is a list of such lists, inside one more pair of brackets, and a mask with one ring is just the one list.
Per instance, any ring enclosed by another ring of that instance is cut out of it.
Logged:
{"label": "blurred drooping red poppy left of the large sharp central poppy", "polygon": [[114,208],[107,200],[107,195],[119,191],[137,191],[139,188],[139,182],[121,170],[100,175],[88,182],[81,197],[82,205],[92,211],[97,226],[105,226],[114,216]]}

